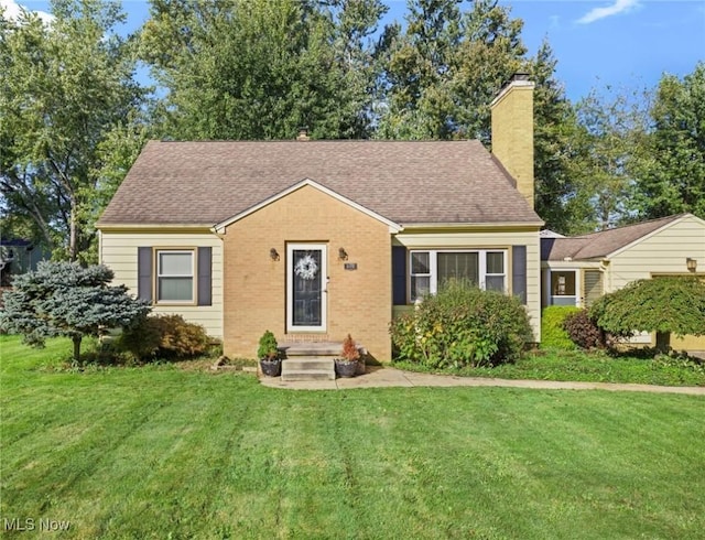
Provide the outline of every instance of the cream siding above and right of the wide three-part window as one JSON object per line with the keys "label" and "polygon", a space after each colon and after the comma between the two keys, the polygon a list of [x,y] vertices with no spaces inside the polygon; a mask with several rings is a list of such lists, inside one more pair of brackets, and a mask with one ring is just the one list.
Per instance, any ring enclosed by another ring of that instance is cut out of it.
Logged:
{"label": "cream siding above and right of the wide three-part window", "polygon": [[541,249],[539,231],[448,231],[400,233],[394,244],[408,249],[501,248],[509,251],[508,279],[511,285],[511,247],[527,246],[527,312],[536,342],[541,341]]}

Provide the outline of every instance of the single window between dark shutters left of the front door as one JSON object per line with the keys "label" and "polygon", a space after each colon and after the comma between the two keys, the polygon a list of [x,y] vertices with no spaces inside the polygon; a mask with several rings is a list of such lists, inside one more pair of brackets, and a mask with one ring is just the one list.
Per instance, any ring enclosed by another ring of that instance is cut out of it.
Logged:
{"label": "single window between dark shutters left of the front door", "polygon": [[156,301],[193,302],[194,251],[156,251]]}

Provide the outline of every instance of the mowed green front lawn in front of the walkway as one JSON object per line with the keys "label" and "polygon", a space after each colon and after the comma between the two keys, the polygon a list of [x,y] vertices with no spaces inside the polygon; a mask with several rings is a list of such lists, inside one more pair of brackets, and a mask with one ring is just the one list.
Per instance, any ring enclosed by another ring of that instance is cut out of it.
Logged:
{"label": "mowed green front lawn in front of the walkway", "polygon": [[[46,538],[703,538],[705,400],[285,391],[174,366],[53,372],[0,336],[0,527]],[[33,521],[26,521],[33,520]],[[44,521],[41,521],[44,520]]]}

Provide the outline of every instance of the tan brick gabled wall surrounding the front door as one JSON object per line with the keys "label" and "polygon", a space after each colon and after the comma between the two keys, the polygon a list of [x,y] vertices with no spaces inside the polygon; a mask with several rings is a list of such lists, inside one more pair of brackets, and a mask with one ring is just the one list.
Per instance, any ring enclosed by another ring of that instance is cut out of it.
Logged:
{"label": "tan brick gabled wall surrounding the front door", "polygon": [[[350,333],[379,360],[391,358],[391,236],[387,225],[312,186],[231,224],[224,236],[224,353],[253,357],[265,330],[286,328],[286,244],[327,246],[327,331],[302,339],[343,341]],[[343,247],[348,260],[338,259]],[[270,249],[280,255],[270,258]],[[345,270],[344,263],[357,263]]]}

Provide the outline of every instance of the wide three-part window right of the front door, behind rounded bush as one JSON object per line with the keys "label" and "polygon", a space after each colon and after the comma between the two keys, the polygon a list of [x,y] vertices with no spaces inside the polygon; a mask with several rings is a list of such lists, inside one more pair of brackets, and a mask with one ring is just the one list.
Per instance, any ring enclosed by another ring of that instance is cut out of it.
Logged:
{"label": "wide three-part window right of the front door, behind rounded bush", "polygon": [[449,279],[466,279],[488,291],[507,290],[507,251],[411,251],[411,300],[435,293]]}

